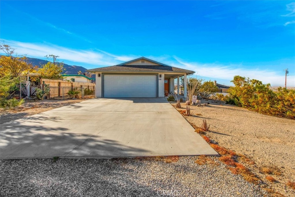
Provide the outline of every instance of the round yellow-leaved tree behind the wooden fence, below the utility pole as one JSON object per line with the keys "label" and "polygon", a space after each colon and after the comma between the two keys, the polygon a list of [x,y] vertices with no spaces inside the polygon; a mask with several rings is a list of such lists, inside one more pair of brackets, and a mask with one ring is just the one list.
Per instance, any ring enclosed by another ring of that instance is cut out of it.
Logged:
{"label": "round yellow-leaved tree behind the wooden fence, below the utility pole", "polygon": [[60,79],[63,78],[61,73],[64,71],[63,63],[55,63],[47,62],[38,69],[38,73],[40,74],[41,78],[44,79]]}

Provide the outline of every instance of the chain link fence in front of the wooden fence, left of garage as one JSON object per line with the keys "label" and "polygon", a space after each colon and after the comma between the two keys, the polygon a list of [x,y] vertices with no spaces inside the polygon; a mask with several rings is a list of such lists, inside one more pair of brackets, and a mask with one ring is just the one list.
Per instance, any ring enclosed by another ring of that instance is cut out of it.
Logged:
{"label": "chain link fence in front of the wooden fence, left of garage", "polygon": [[46,99],[88,99],[95,97],[95,86],[79,86],[79,87],[49,87],[50,92],[46,95]]}

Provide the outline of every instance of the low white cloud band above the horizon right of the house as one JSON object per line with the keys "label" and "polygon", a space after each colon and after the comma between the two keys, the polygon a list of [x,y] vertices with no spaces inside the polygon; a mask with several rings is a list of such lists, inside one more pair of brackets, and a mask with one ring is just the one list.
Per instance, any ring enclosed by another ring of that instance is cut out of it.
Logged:
{"label": "low white cloud band above the horizon right of the house", "polygon": [[[284,84],[285,76],[271,70],[245,69],[245,66],[242,64],[201,64],[197,62],[186,62],[176,56],[174,56],[174,58],[179,64],[182,64],[184,68],[196,71],[196,75],[203,77],[232,80],[235,75],[240,75],[249,77],[250,79],[258,79],[263,83],[270,83],[272,86],[283,86]],[[287,82],[288,86],[295,86],[294,74],[290,73]]]}

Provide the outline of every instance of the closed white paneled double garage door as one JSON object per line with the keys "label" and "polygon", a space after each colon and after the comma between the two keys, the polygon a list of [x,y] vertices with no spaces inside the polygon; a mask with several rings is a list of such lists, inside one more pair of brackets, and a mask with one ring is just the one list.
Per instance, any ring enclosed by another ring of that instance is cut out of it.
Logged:
{"label": "closed white paneled double garage door", "polygon": [[104,97],[157,97],[157,76],[104,75]]}

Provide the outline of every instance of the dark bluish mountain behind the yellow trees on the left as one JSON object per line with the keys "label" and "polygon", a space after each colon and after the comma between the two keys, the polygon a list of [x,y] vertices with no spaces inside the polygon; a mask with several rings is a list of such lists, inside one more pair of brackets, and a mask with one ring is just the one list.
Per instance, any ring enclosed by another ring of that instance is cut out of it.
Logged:
{"label": "dark bluish mountain behind the yellow trees on the left", "polygon": [[[38,58],[28,58],[27,57],[27,62],[31,63],[34,66],[38,66],[40,67],[43,64],[47,64],[47,60],[42,60],[42,59],[38,59]],[[65,69],[65,71],[63,71],[63,74],[78,74],[78,71],[81,71],[82,73],[86,72],[86,68],[82,67],[82,66],[76,66],[76,65],[68,65],[68,64],[63,64],[63,68]]]}

